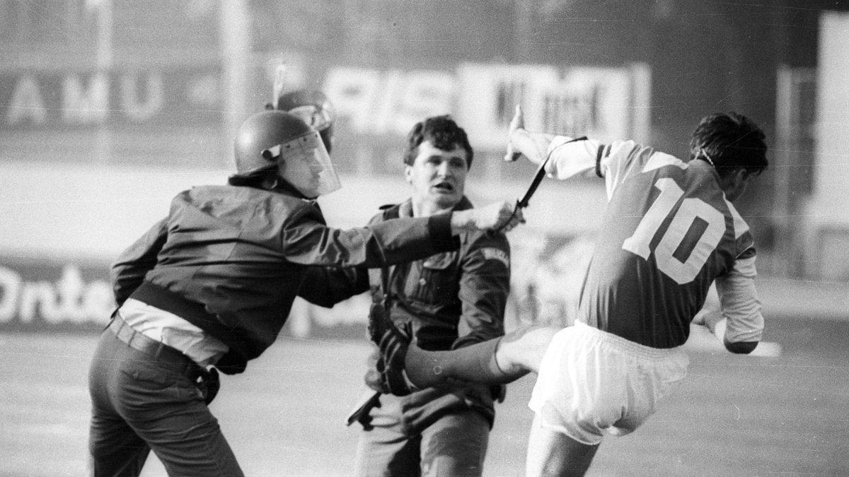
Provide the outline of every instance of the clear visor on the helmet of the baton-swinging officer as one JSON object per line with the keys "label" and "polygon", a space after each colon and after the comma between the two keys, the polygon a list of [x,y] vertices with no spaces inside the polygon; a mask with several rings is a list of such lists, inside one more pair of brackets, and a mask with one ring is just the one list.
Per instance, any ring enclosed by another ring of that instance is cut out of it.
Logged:
{"label": "clear visor on the helmet of the baton-swinging officer", "polygon": [[280,175],[309,199],[342,187],[318,131],[301,134],[262,151],[262,155],[276,157]]}

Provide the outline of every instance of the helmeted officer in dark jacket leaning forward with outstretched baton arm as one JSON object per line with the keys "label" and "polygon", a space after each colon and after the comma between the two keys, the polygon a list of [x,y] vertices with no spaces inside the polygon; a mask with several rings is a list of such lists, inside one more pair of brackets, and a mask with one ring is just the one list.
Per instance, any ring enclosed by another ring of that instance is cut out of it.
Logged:
{"label": "helmeted officer in dark jacket leaning forward with outstretched baton arm", "polygon": [[95,475],[138,475],[150,449],[170,475],[242,475],[207,407],[208,368],[241,373],[276,340],[307,267],[385,267],[520,220],[504,201],[327,227],[313,199],[339,188],[329,154],[316,130],[279,110],[243,123],[235,160],[228,185],[177,194],[112,267],[120,307],[89,371]]}

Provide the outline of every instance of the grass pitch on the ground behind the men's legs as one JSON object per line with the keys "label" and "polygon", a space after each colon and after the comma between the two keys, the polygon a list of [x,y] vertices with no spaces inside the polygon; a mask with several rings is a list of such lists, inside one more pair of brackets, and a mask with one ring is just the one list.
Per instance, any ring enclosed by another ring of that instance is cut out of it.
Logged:
{"label": "grass pitch on the ground behind the men's legs", "polygon": [[[695,346],[689,376],[633,435],[608,438],[589,475],[849,475],[849,323],[768,323],[779,356]],[[87,368],[96,336],[0,334],[0,476],[87,475]],[[368,345],[284,338],[212,403],[245,473],[349,475],[344,425]],[[498,406],[487,476],[524,474],[533,376]],[[165,475],[154,457],[143,475]]]}

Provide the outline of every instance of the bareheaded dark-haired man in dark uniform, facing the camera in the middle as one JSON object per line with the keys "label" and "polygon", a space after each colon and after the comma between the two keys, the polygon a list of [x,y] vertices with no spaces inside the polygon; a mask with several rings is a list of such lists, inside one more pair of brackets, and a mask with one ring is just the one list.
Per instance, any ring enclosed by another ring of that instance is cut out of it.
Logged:
{"label": "bareheaded dark-haired man in dark uniform, facing the camera in the middle", "polygon": [[[369,226],[397,217],[434,217],[471,209],[464,188],[473,154],[465,131],[449,116],[417,123],[403,154],[412,197],[383,207]],[[503,233],[470,231],[460,234],[459,250],[393,267],[311,270],[314,278],[307,288],[320,297],[314,303],[328,306],[370,287],[372,321],[385,314],[407,329],[420,347],[447,351],[503,335],[509,261]],[[374,374],[374,370],[367,374],[366,384],[372,389],[363,390],[363,401],[381,389]],[[371,401],[356,416],[364,425],[355,473],[481,475],[495,417],[492,392],[482,385],[428,388],[409,396],[382,395],[380,406]]]}

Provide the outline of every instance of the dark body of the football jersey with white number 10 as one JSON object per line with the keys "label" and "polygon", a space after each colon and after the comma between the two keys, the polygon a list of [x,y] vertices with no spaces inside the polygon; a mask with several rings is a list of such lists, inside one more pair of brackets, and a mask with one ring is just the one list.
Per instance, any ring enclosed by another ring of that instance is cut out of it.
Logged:
{"label": "dark body of the football jersey with white number 10", "polygon": [[711,283],[754,255],[717,171],[634,143],[600,150],[608,205],[578,319],[655,348],[683,345]]}

